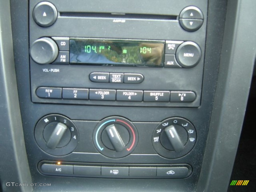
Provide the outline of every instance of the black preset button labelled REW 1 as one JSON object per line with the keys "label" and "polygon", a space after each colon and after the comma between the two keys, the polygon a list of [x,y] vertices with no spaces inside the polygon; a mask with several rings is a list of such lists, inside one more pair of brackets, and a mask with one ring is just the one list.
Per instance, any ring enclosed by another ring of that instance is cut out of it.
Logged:
{"label": "black preset button labelled REW 1", "polygon": [[36,95],[40,98],[61,99],[61,88],[57,87],[38,87]]}

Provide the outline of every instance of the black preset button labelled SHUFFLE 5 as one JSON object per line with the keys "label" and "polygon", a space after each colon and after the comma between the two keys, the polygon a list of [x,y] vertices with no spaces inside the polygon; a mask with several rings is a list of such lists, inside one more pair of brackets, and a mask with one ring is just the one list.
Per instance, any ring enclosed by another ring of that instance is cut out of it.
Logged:
{"label": "black preset button labelled SHUFFLE 5", "polygon": [[170,91],[144,91],[143,101],[169,102]]}

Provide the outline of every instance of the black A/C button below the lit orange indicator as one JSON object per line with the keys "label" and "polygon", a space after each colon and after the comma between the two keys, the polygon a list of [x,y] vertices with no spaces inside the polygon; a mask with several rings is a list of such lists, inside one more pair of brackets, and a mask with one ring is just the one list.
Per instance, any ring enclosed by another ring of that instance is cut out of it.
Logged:
{"label": "black A/C button below the lit orange indicator", "polygon": [[44,174],[50,175],[72,175],[73,165],[42,164],[41,170]]}

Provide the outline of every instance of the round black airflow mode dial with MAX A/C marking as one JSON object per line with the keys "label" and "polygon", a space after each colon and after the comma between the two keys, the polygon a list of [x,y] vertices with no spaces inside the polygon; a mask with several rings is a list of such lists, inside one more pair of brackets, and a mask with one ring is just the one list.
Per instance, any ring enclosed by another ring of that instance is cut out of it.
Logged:
{"label": "round black airflow mode dial with MAX A/C marking", "polygon": [[179,158],[189,153],[196,143],[195,127],[186,119],[169,118],[154,130],[155,151],[166,158]]}

